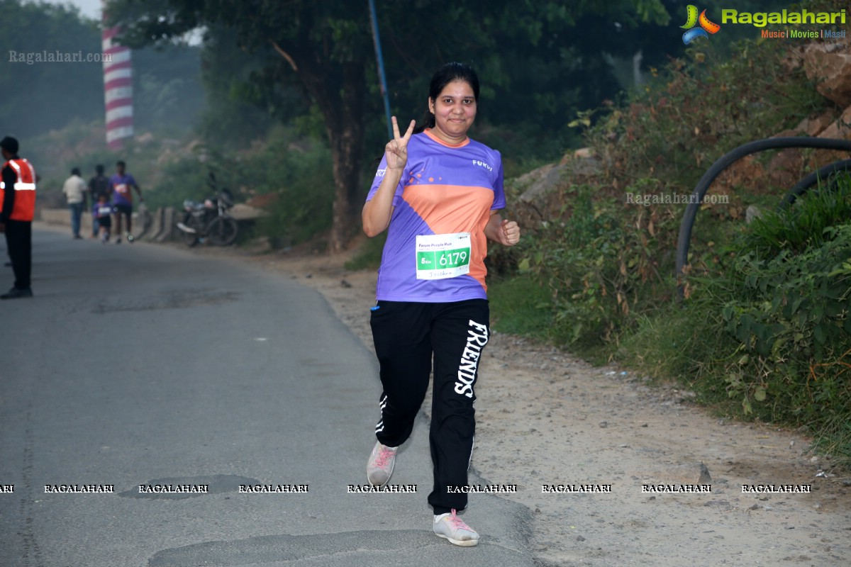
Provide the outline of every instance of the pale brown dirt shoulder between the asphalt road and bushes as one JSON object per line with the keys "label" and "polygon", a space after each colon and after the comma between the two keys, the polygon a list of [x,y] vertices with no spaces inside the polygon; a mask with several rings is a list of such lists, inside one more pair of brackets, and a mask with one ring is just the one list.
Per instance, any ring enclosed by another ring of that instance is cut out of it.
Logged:
{"label": "pale brown dirt shoulder between the asphalt road and bushes", "polygon": [[[343,256],[247,258],[317,289],[372,349],[374,273],[347,271]],[[531,546],[542,566],[851,565],[851,479],[829,458],[809,455],[801,434],[710,417],[688,392],[648,388],[642,377],[498,325],[477,397],[471,466],[491,484],[517,485],[504,496],[534,511]],[[700,479],[701,462],[711,481]],[[711,492],[643,492],[698,484]],[[742,493],[758,484],[812,491]],[[543,493],[542,485],[611,492]]]}

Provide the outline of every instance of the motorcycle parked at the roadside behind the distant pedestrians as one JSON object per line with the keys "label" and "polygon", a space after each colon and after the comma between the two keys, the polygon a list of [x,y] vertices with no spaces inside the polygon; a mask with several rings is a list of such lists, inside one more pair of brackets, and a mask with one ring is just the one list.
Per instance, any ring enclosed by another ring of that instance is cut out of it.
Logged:
{"label": "motorcycle parked at the roadside behind the distant pedestrians", "polygon": [[237,240],[237,220],[227,213],[233,207],[233,196],[229,190],[218,190],[213,173],[209,174],[207,184],[215,196],[203,202],[183,201],[186,213],[177,228],[183,233],[186,246],[193,247],[204,239],[215,246],[231,246]]}

